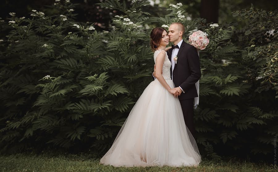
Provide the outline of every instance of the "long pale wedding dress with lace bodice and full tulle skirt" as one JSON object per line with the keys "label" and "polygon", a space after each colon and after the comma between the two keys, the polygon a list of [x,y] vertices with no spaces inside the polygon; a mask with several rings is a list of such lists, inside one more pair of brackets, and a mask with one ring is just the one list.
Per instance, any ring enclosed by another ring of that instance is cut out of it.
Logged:
{"label": "long pale wedding dress with lace bodice and full tulle skirt", "polygon": [[[154,62],[162,50],[154,52]],[[166,54],[162,76],[171,88]],[[183,119],[179,99],[156,79],[144,90],[101,164],[112,166],[197,166],[201,156]]]}

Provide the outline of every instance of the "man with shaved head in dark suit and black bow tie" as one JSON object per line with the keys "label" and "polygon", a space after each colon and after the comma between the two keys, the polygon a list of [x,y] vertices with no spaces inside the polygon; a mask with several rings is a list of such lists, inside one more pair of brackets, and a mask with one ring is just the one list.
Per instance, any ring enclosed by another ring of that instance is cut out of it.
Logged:
{"label": "man with shaved head in dark suit and black bow tie", "polygon": [[[174,44],[167,51],[172,63],[171,77],[175,89],[179,91],[179,102],[183,110],[185,125],[195,137],[193,101],[194,97],[198,97],[195,83],[201,77],[199,56],[195,47],[183,41],[185,28],[182,23],[172,23],[168,31],[169,41]],[[176,56],[178,58],[175,60]]]}

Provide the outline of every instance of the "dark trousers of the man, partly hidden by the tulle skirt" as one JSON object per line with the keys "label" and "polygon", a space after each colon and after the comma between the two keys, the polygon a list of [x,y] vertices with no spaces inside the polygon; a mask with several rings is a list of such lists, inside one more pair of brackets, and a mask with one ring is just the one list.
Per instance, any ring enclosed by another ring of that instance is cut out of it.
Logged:
{"label": "dark trousers of the man, partly hidden by the tulle skirt", "polygon": [[193,101],[194,98],[179,100],[183,110],[183,118],[184,118],[185,125],[189,129],[192,136],[195,138],[195,127],[193,124]]}

